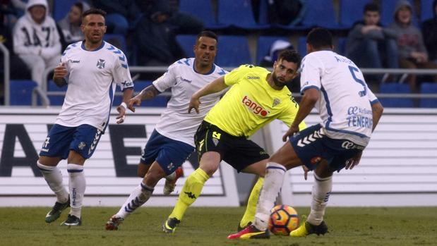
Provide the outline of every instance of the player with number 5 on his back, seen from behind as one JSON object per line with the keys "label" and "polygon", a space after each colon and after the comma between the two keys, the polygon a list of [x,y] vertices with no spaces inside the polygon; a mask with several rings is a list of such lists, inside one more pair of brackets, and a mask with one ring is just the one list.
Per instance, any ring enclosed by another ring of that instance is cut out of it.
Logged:
{"label": "player with number 5 on his back, seen from behind", "polygon": [[[359,68],[333,51],[333,38],[328,30],[311,30],[306,42],[308,55],[301,63],[303,97],[294,122],[282,137],[284,141],[289,137],[289,141],[270,157],[255,223],[229,235],[229,239],[262,238],[268,234],[270,209],[282,187],[285,171],[301,165],[305,178],[307,171],[314,170],[311,212],[308,220],[290,235],[327,233],[323,215],[333,186],[333,172],[359,164],[383,113],[383,106],[369,90]],[[299,123],[314,106],[323,123],[299,131]]]}

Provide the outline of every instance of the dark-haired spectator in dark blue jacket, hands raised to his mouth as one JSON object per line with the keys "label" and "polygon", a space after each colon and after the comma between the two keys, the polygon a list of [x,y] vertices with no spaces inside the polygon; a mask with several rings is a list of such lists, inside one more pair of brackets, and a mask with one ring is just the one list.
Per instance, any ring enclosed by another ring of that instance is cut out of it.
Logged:
{"label": "dark-haired spectator in dark blue jacket, hands raised to his mouth", "polygon": [[381,26],[377,4],[364,6],[364,20],[354,24],[347,35],[345,56],[360,68],[399,68],[397,33]]}

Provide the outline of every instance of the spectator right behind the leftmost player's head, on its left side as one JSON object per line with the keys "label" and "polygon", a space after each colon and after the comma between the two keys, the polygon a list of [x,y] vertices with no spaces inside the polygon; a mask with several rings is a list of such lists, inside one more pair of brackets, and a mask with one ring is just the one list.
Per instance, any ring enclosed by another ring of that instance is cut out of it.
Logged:
{"label": "spectator right behind the leftmost player's head, on its left side", "polygon": [[84,39],[83,32],[80,30],[80,25],[82,24],[82,13],[88,11],[90,6],[83,2],[77,1],[71,6],[68,14],[59,20],[58,26],[61,28],[61,39],[64,39],[65,45],[64,49],[68,44],[82,41]]}

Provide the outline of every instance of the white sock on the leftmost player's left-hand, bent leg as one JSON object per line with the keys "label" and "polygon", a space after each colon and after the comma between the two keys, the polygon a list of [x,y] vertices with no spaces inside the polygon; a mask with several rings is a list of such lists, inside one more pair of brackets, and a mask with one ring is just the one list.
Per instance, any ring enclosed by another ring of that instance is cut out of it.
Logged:
{"label": "white sock on the leftmost player's left-hand, bent leg", "polygon": [[45,166],[37,161],[37,167],[40,169],[42,176],[56,195],[56,202],[65,203],[68,201],[68,192],[62,183],[62,173],[57,166]]}

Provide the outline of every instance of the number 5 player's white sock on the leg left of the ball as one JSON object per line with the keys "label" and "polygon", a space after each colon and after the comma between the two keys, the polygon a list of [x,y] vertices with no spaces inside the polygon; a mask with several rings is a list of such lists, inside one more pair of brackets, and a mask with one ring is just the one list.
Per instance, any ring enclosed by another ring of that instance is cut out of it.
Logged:
{"label": "number 5 player's white sock on the leg left of the ball", "polygon": [[269,162],[265,167],[264,185],[258,199],[255,222],[253,223],[258,230],[267,229],[270,209],[275,205],[276,197],[281,191],[286,171],[285,166],[274,162]]}

